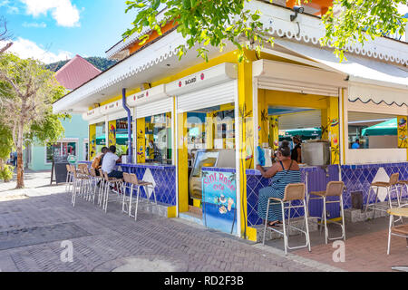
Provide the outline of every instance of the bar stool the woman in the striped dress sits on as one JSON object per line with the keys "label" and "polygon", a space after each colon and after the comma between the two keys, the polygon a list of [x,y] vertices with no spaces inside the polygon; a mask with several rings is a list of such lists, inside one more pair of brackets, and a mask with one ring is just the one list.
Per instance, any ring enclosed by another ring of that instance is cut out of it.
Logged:
{"label": "bar stool the woman in the striped dress sits on", "polygon": [[[302,201],[302,204],[300,205],[292,205],[292,202],[298,200]],[[269,227],[271,230],[277,232],[280,235],[284,236],[284,244],[285,244],[285,255],[287,255],[287,249],[297,249],[297,248],[302,248],[302,247],[308,247],[309,252],[312,251],[310,247],[310,236],[309,236],[309,224],[307,221],[307,207],[306,207],[306,185],[304,183],[294,183],[294,184],[288,184],[287,188],[285,189],[285,196],[283,199],[281,198],[268,198],[267,200],[267,217],[269,216],[269,207],[271,204],[271,201],[278,201],[281,204],[282,207],[282,218],[283,218],[283,232],[279,231],[273,227]],[[288,205],[287,205],[288,204]],[[286,206],[287,205],[287,206]],[[292,208],[304,208],[305,211],[305,225],[306,225],[306,231],[291,226],[290,225],[290,209]],[[288,218],[287,218],[287,226],[286,226],[286,216],[285,216],[285,209],[288,209]],[[288,245],[288,232],[290,228],[293,228],[306,236],[306,245],[304,246],[299,246],[299,247],[289,247]],[[267,218],[265,220],[265,228],[264,228],[264,238],[263,238],[263,245],[265,246],[265,237],[267,234]]]}

